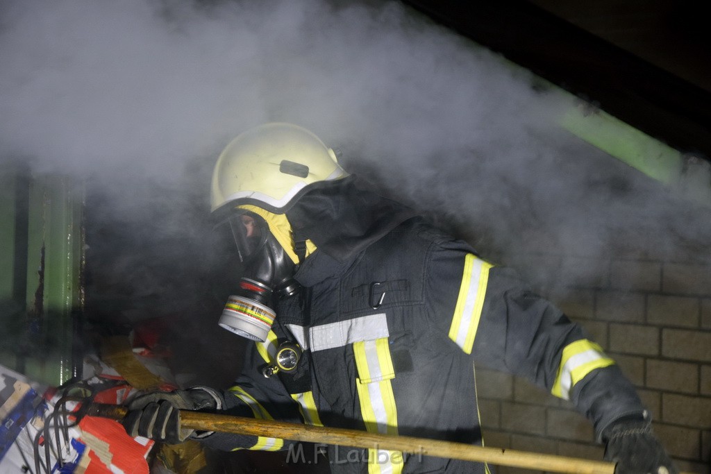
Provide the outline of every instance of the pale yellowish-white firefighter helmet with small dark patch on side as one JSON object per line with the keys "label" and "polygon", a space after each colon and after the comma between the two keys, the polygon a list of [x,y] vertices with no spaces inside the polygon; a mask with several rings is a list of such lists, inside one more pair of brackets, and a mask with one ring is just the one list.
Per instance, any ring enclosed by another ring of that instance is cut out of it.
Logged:
{"label": "pale yellowish-white firefighter helmet with small dark patch on side", "polygon": [[281,122],[263,124],[238,135],[220,154],[210,205],[213,212],[232,203],[280,214],[309,185],[346,176],[336,153],[311,131]]}

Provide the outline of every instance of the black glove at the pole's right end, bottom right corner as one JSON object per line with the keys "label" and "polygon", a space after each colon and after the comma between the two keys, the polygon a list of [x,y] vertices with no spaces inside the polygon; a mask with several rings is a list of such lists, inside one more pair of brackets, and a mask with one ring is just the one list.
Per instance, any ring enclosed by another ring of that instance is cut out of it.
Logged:
{"label": "black glove at the pole's right end, bottom right corner", "polygon": [[647,420],[621,419],[607,427],[605,460],[616,463],[615,474],[678,474]]}

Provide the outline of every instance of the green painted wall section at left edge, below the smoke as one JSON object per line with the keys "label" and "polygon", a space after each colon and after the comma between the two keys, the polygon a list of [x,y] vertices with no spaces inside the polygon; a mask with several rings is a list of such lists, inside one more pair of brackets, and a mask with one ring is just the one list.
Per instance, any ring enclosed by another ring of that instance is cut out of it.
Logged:
{"label": "green painted wall section at left edge, below the smoke", "polygon": [[73,375],[83,206],[71,178],[0,169],[0,363],[50,385]]}

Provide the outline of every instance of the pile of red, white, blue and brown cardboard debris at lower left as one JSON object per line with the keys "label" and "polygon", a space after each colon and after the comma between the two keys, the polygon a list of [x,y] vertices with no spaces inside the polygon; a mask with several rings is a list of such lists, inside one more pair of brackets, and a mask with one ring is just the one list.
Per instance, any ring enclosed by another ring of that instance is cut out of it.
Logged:
{"label": "pile of red, white, blue and brown cardboard debris at lower left", "polygon": [[[94,387],[95,402],[124,404],[140,392],[177,388],[161,354],[145,344],[146,335],[133,339],[108,338],[100,357],[85,357],[92,375],[82,382]],[[143,342],[140,348],[137,342]],[[55,410],[62,394],[0,365],[0,473],[149,473],[154,441],[132,438],[110,419],[85,416],[75,424],[65,414],[77,409],[75,402],[63,406],[59,416]],[[175,474],[195,473],[207,465],[196,441],[161,444],[156,461],[163,464],[161,472]]]}

